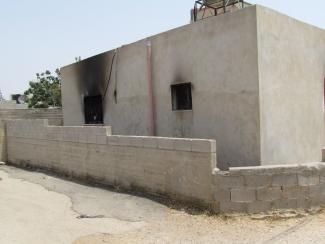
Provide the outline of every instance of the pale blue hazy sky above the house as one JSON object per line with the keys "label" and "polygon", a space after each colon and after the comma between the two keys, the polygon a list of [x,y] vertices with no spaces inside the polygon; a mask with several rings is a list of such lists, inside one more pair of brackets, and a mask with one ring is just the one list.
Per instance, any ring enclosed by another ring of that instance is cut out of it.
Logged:
{"label": "pale blue hazy sky above the house", "polygon": [[[325,29],[325,1],[250,1]],[[194,0],[0,0],[0,90],[35,73],[188,24]],[[325,54],[324,54],[325,55]]]}

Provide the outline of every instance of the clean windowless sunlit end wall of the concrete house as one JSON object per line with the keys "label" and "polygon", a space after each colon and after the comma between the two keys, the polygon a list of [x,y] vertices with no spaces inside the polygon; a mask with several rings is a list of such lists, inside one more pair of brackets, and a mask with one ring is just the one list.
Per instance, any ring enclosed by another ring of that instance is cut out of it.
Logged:
{"label": "clean windowless sunlit end wall of the concrete house", "polygon": [[257,20],[262,164],[320,161],[325,31],[260,6]]}

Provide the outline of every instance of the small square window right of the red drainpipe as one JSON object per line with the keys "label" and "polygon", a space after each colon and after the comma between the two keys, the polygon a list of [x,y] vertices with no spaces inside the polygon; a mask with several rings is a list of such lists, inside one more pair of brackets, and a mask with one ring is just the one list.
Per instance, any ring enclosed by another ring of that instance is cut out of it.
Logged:
{"label": "small square window right of the red drainpipe", "polygon": [[182,83],[171,85],[172,109],[192,110],[192,85],[191,83]]}

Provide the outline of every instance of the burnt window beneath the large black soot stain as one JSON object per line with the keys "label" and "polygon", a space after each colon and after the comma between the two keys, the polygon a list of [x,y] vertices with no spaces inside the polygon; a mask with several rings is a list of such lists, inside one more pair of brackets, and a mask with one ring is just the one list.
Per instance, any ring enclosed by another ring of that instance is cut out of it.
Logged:
{"label": "burnt window beneath the large black soot stain", "polygon": [[102,96],[84,98],[85,124],[103,124]]}

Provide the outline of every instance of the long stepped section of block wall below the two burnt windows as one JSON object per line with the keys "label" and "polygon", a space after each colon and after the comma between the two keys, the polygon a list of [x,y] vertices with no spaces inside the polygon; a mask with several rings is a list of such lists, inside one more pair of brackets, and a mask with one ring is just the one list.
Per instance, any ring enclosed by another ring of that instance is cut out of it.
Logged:
{"label": "long stepped section of block wall below the two burnt windows", "polygon": [[212,202],[214,140],[111,136],[110,127],[7,121],[8,162],[179,200]]}

